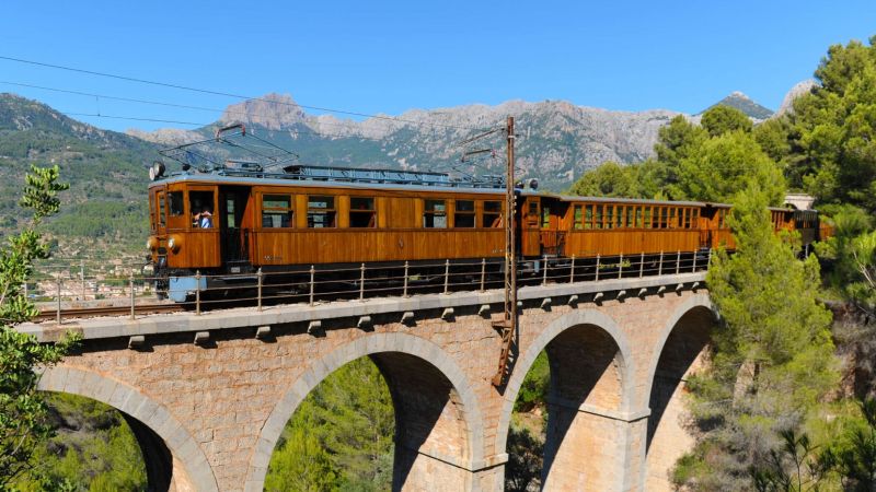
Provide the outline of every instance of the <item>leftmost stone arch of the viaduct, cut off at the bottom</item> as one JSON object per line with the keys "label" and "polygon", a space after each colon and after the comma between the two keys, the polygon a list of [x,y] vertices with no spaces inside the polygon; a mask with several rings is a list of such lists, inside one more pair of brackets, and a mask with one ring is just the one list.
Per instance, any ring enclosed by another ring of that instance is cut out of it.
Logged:
{"label": "leftmost stone arch of the viaduct, cut off at the bottom", "polygon": [[164,406],[132,386],[92,371],[58,365],[43,373],[37,388],[91,398],[120,411],[143,452],[150,490],[155,485],[159,490],[219,490],[197,441]]}

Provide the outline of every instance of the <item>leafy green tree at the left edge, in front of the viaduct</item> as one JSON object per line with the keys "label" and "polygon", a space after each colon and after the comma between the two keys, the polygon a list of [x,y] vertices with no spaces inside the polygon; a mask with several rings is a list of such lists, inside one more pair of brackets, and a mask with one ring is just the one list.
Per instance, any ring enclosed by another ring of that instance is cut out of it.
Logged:
{"label": "leafy green tree at the left edge, in front of the viaduct", "polygon": [[74,343],[68,337],[61,343],[43,344],[14,329],[36,315],[22,286],[34,261],[49,256],[37,226],[58,211],[57,194],[67,189],[57,183],[58,175],[57,166],[32,166],[20,202],[33,211],[31,223],[0,248],[0,489],[11,488],[34,469],[34,452],[53,432],[46,423],[45,397],[36,390],[35,368],[58,362]]}

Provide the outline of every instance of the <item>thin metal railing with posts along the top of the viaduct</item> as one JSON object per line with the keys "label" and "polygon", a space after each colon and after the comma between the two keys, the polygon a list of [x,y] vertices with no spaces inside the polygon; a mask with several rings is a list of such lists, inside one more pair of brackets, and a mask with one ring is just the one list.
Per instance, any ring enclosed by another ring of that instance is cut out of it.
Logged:
{"label": "thin metal railing with posts along the top of the viaduct", "polygon": [[[581,258],[543,257],[519,261],[518,283],[521,288],[558,283],[599,282],[610,279],[659,277],[705,271],[712,260],[711,249],[634,254]],[[297,270],[257,269],[244,273],[201,274],[185,291],[174,291],[166,277],[148,277],[140,267],[129,267],[125,276],[87,277],[82,263],[65,268],[54,263],[42,272],[42,281],[28,282],[25,295],[36,301],[44,317],[61,313],[77,317],[76,308],[97,305],[129,308],[131,319],[138,309],[166,306],[169,296],[185,301],[175,303],[199,315],[204,311],[229,306],[267,305],[391,297],[419,294],[449,294],[460,291],[486,291],[504,286],[502,259],[480,261],[413,262],[385,266],[360,263],[354,268],[304,266]],[[164,300],[163,304],[160,302]],[[158,311],[158,309],[154,309]],[[127,311],[125,311],[127,313]],[[119,313],[122,314],[122,313]]]}

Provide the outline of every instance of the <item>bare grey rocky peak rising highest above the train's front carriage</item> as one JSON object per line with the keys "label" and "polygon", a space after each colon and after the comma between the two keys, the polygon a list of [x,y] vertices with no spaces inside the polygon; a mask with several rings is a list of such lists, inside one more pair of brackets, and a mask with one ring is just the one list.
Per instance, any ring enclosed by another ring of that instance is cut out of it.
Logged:
{"label": "bare grey rocky peak rising highest above the train's front carriage", "polygon": [[246,99],[226,108],[221,125],[242,122],[256,125],[269,130],[280,130],[307,119],[304,110],[289,94],[270,93],[255,99]]}

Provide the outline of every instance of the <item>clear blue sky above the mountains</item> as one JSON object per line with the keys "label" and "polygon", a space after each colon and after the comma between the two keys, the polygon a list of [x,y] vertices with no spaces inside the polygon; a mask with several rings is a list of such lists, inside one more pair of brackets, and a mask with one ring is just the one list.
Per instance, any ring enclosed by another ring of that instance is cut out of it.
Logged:
{"label": "clear blue sky above the mountains", "polygon": [[[831,44],[876,34],[876,2],[7,2],[0,56],[396,115],[508,99],[698,113],[733,91],[776,108]],[[222,108],[237,102],[0,60],[0,81]],[[68,113],[217,113],[0,83]],[[77,117],[124,130],[177,126]]]}

